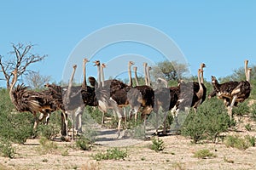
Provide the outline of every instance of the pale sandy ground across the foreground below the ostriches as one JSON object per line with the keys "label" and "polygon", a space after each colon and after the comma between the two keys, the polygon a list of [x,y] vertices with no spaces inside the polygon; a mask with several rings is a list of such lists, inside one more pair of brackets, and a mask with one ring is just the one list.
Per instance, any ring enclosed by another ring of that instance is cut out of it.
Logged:
{"label": "pale sandy ground across the foreground below the ostriches", "polygon": [[[242,128],[243,126],[241,126]],[[239,134],[247,134],[240,129]],[[234,133],[234,132],[232,132]],[[123,135],[124,133],[122,133]],[[255,135],[255,128],[251,135]],[[2,169],[256,169],[256,147],[247,150],[227,148],[218,144],[191,144],[190,139],[170,134],[160,137],[165,149],[149,149],[151,140],[116,139],[113,129],[100,129],[92,150],[78,150],[74,142],[55,142],[57,149],[42,153],[38,139],[28,139],[26,144],[15,144],[15,158],[0,157]],[[92,156],[113,147],[127,150],[125,160],[95,161]],[[198,159],[197,150],[208,149],[216,157]]]}

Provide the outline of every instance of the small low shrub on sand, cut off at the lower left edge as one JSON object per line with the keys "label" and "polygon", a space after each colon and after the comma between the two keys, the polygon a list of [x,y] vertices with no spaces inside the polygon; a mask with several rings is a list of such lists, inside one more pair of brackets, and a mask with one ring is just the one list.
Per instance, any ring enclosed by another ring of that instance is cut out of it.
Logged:
{"label": "small low shrub on sand, cut off at the lower left edge", "polygon": [[7,139],[0,139],[0,156],[14,158],[15,149]]}

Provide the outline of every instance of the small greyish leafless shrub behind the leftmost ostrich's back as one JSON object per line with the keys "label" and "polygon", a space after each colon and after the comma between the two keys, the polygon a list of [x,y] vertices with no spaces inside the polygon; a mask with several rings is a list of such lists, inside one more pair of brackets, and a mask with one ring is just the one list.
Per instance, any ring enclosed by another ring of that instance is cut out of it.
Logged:
{"label": "small greyish leafless shrub behind the leftmost ostrich's back", "polygon": [[26,84],[33,89],[44,88],[44,84],[50,81],[50,76],[43,76],[39,71],[30,71],[26,74]]}

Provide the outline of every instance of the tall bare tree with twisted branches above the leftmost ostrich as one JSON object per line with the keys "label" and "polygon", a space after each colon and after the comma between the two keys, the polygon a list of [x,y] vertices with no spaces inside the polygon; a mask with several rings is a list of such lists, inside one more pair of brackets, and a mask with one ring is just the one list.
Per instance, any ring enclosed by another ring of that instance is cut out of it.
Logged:
{"label": "tall bare tree with twisted branches above the leftmost ostrich", "polygon": [[[0,55],[0,66],[3,72],[3,78],[0,80],[6,81],[6,88],[10,88],[10,82],[12,77],[12,71],[17,70],[17,77],[23,75],[27,70],[27,67],[32,63],[43,60],[46,55],[40,56],[38,54],[32,54],[33,44],[12,44],[13,50],[10,52],[10,58],[5,59]],[[5,60],[3,60],[5,59]]]}

